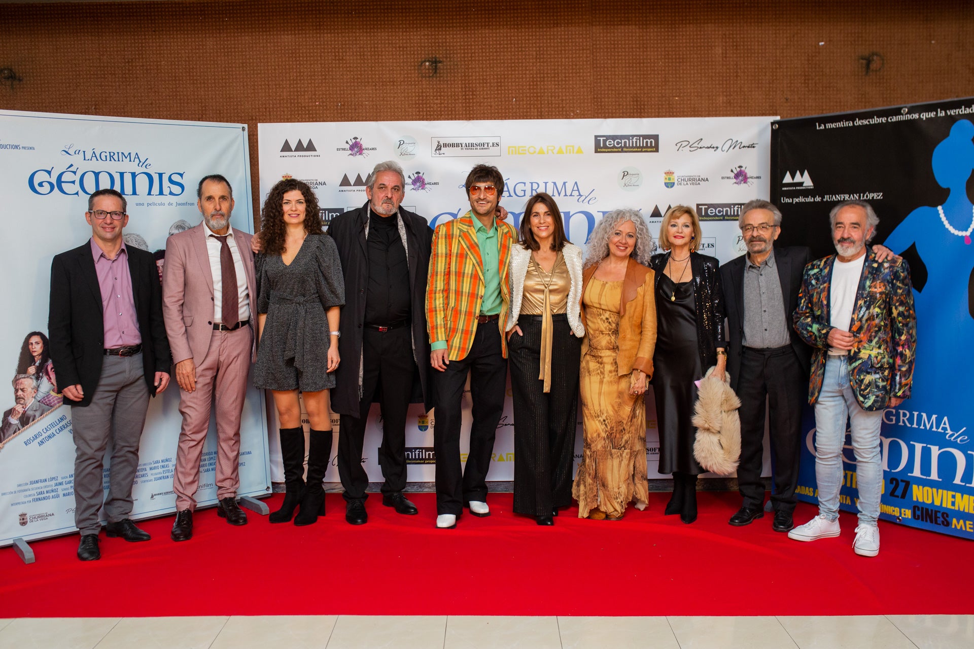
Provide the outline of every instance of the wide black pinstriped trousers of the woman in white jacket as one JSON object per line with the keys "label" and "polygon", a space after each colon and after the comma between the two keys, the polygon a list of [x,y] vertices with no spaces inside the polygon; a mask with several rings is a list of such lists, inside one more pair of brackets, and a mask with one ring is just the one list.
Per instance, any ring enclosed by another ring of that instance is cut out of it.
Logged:
{"label": "wide black pinstriped trousers of the woman in white jacket", "polygon": [[507,341],[514,401],[514,512],[551,516],[572,504],[581,339],[565,314],[552,316],[551,389],[541,373],[541,316],[522,315]]}

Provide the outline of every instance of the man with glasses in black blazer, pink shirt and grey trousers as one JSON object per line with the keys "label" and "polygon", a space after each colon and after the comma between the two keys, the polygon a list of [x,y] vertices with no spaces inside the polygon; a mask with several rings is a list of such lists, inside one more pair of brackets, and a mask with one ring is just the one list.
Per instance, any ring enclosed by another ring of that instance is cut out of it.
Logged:
{"label": "man with glasses in black blazer, pink shirt and grey trousers", "polygon": [[131,522],[131,486],[149,395],[169,385],[169,342],[152,254],[126,246],[126,199],[98,190],[85,219],[92,238],[51,264],[48,334],[57,382],[71,406],[74,522],[78,559],[100,559],[98,510],[102,464],[112,442],[111,485],[104,502],[107,536],[148,541]]}

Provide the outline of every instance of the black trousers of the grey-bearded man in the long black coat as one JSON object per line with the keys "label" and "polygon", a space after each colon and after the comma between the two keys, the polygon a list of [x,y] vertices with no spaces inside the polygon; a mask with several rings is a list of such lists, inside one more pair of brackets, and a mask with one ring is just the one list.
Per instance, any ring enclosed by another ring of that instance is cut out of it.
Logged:
{"label": "black trousers of the grey-bearded man in the long black coat", "polygon": [[[355,358],[343,360],[357,363]],[[382,492],[394,493],[406,487],[406,415],[417,376],[412,329],[408,325],[387,332],[362,329],[362,397],[358,402],[358,416],[341,415],[338,434],[338,475],[347,501],[361,501],[366,497],[368,474],[362,467],[362,444],[368,412],[376,390],[380,389],[379,464],[385,479]]]}

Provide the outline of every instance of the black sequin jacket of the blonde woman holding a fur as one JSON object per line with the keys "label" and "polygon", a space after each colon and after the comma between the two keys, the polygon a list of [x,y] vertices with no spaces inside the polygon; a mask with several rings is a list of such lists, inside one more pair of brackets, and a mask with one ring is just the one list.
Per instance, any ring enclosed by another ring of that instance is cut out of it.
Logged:
{"label": "black sequin jacket of the blonde woman holding a fur", "polygon": [[[663,275],[669,253],[653,255],[650,268],[656,270],[656,283]],[[716,257],[698,252],[690,255],[693,268],[693,302],[696,307],[696,344],[700,351],[700,367],[706,372],[717,365],[717,347],[727,348],[724,336],[724,297],[721,293],[721,263]]]}

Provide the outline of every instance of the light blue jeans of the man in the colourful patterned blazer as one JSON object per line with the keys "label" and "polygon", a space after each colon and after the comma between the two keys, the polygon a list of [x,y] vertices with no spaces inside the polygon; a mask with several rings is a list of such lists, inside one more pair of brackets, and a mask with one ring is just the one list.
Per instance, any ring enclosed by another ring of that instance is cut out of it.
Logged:
{"label": "light blue jeans of the man in the colourful patterned blazer", "polygon": [[[851,424],[851,425],[848,425]],[[839,491],[843,487],[843,449],[846,426],[851,429],[859,487],[859,523],[875,525],[880,516],[882,464],[880,426],[882,411],[864,411],[849,382],[844,356],[825,362],[822,391],[815,402],[815,480],[818,512],[829,521],[839,518]]]}

